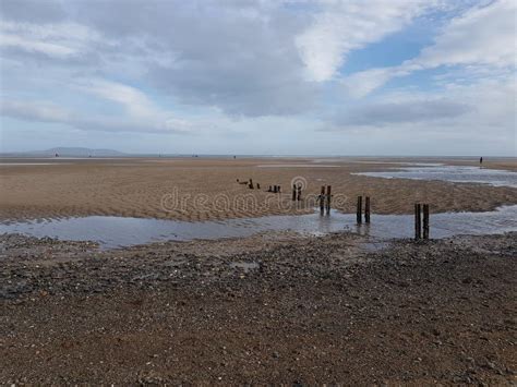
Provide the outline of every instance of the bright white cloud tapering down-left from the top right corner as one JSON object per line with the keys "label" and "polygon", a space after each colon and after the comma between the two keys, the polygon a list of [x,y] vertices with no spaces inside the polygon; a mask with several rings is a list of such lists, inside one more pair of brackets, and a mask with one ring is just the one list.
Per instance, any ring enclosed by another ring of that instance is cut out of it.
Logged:
{"label": "bright white cloud tapering down-left from the top right corner", "polygon": [[[516,65],[517,2],[497,0],[485,7],[474,7],[453,19],[432,46],[400,65],[370,69],[341,80],[347,92],[364,97],[387,81],[412,72],[442,65],[507,68]],[[491,70],[492,71],[492,70]]]}

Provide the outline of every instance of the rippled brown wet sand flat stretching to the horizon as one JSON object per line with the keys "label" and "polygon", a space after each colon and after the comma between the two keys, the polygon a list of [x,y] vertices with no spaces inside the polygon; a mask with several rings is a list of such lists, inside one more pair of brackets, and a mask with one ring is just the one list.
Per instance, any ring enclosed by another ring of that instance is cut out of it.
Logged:
{"label": "rippled brown wet sand flat stretching to the horizon", "polygon": [[[325,184],[333,186],[333,207],[346,213],[354,211],[358,195],[371,196],[377,214],[410,214],[414,202],[430,203],[434,213],[517,204],[512,188],[350,174],[412,161],[479,166],[468,158],[2,159],[0,219],[109,215],[197,221],[306,214]],[[483,167],[516,171],[517,161],[485,160]],[[253,179],[261,190],[249,190],[237,179]],[[292,181],[306,182],[303,198],[310,201],[293,205]],[[282,194],[266,192],[275,184]]]}

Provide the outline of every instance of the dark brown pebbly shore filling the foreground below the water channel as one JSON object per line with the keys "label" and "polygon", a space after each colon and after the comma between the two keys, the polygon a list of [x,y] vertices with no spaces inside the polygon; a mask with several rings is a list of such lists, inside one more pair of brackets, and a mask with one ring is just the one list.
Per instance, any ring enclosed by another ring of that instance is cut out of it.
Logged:
{"label": "dark brown pebbly shore filling the foreground below the water channel", "polygon": [[1,235],[0,384],[512,384],[516,237]]}

